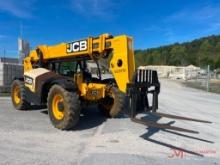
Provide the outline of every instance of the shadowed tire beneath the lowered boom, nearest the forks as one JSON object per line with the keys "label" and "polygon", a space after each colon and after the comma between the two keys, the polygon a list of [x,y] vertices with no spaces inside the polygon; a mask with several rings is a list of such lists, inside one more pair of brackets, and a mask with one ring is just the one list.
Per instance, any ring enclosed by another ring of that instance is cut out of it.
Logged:
{"label": "shadowed tire beneath the lowered boom, nearest the forks", "polygon": [[98,105],[101,114],[106,117],[114,118],[124,108],[125,94],[118,88],[111,87],[110,94],[102,99]]}

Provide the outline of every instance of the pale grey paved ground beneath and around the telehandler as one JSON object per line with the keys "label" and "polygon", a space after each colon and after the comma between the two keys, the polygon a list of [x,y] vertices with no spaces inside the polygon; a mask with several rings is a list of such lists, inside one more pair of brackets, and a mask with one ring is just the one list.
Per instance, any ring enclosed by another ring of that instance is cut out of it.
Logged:
{"label": "pale grey paved ground beneath and around the telehandler", "polygon": [[200,132],[182,133],[106,119],[91,107],[75,130],[60,131],[45,109],[16,111],[10,98],[0,98],[0,164],[220,164],[220,95],[163,80],[159,111],[213,123],[146,116]]}

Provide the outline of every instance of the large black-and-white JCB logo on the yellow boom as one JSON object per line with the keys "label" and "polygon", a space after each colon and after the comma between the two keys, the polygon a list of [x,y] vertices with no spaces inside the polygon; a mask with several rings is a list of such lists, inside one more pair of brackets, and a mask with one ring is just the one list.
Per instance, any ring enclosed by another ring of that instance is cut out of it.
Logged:
{"label": "large black-and-white JCB logo on the yellow boom", "polygon": [[87,50],[87,40],[75,41],[66,45],[67,53],[81,52]]}

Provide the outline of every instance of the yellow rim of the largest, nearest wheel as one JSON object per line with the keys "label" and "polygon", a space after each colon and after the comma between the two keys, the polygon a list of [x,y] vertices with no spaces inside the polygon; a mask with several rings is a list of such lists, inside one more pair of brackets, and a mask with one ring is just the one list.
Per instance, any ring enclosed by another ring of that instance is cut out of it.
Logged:
{"label": "yellow rim of the largest, nearest wheel", "polygon": [[64,117],[63,97],[60,94],[55,94],[52,101],[53,115],[57,120],[62,120]]}

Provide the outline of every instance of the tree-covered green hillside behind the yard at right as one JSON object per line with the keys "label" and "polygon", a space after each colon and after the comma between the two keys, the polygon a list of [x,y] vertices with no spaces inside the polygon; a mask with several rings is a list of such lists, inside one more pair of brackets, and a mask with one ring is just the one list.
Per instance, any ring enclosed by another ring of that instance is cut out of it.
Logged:
{"label": "tree-covered green hillside behind the yard at right", "polygon": [[220,35],[135,51],[136,65],[189,65],[220,68]]}

